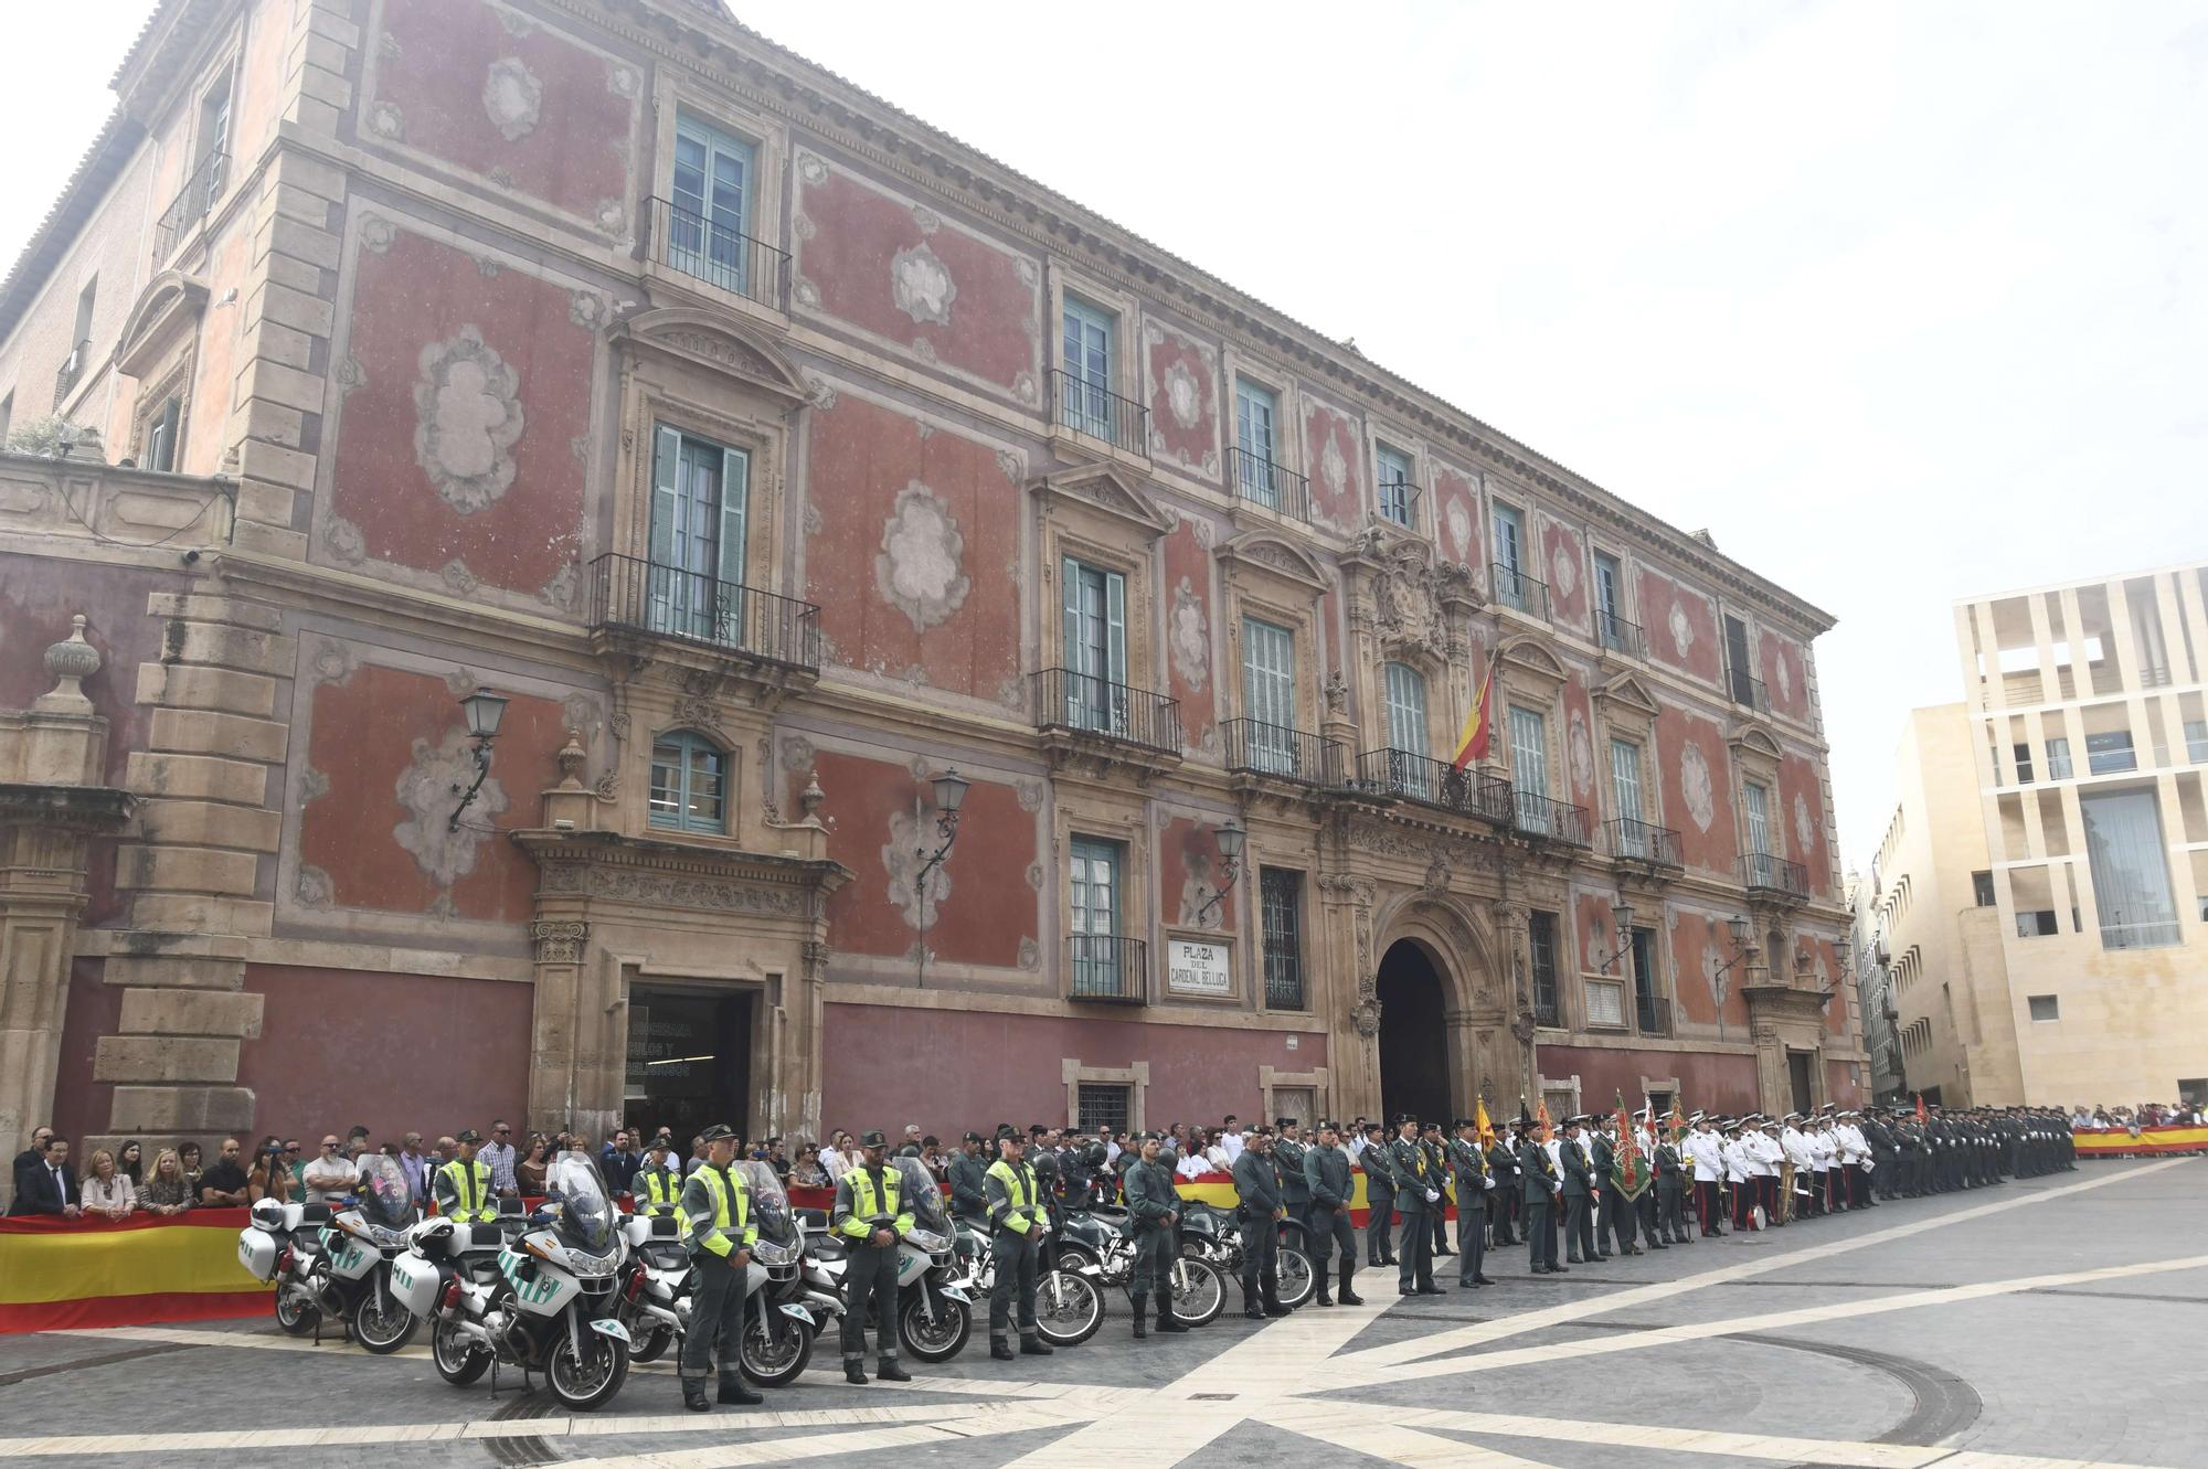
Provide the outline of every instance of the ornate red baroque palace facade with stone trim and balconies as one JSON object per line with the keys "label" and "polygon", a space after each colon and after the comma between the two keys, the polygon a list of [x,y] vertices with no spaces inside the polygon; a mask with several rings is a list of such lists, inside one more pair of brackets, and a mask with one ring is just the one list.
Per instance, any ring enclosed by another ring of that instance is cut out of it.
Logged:
{"label": "ornate red baroque palace facade with stone trim and balconies", "polygon": [[1709,536],[718,4],[115,88],[0,287],[0,1129],[1861,1096],[1830,618]]}

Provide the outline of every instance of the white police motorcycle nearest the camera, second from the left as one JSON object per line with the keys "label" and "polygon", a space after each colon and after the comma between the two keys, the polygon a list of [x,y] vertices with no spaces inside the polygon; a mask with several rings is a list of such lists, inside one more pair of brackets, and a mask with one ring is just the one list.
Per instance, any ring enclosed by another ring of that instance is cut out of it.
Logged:
{"label": "white police motorcycle nearest the camera, second from the left", "polygon": [[565,1407],[590,1412],[629,1376],[629,1328],[616,1290],[629,1246],[590,1156],[559,1154],[545,1193],[545,1207],[499,1248],[495,1270],[437,1268],[486,1226],[428,1220],[393,1284],[408,1310],[428,1319],[431,1359],[444,1381],[466,1387],[490,1368],[521,1368],[543,1374]]}

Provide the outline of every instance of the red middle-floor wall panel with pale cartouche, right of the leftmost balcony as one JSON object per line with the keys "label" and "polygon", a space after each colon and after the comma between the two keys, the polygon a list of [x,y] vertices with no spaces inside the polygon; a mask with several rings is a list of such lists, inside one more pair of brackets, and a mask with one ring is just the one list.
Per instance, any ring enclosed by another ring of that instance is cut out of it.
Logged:
{"label": "red middle-floor wall panel with pale cartouche, right of the leftmost balcony", "polygon": [[835,662],[1025,712],[1020,490],[996,450],[852,395],[810,432],[806,598]]}

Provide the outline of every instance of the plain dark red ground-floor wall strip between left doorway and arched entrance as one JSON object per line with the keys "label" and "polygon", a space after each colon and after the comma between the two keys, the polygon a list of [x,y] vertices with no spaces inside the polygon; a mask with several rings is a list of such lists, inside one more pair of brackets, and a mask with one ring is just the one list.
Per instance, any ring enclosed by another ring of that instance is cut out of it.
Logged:
{"label": "plain dark red ground-floor wall strip between left doorway and arched entrance", "polygon": [[[1307,1072],[1327,1063],[1325,1034],[1144,1026],[1117,1019],[899,1010],[828,1004],[821,1120],[852,1132],[919,1123],[941,1138],[998,1123],[1066,1123],[1060,1057],[1093,1068],[1150,1063],[1144,1120],[1166,1127],[1261,1112],[1259,1065]],[[991,1059],[1013,1059],[1002,1065]]]}

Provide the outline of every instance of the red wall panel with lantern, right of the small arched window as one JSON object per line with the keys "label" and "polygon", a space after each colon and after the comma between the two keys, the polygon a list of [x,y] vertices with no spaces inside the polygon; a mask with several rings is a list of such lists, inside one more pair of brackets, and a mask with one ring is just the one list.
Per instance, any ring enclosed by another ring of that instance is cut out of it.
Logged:
{"label": "red wall panel with lantern, right of the small arched window", "polygon": [[[910,768],[859,754],[821,750],[815,768],[828,792],[824,814],[835,816],[828,856],[859,873],[828,900],[828,944],[846,953],[905,955],[921,937],[910,898],[912,849],[923,840],[927,851],[941,845],[932,792]],[[1038,933],[1042,904],[1027,880],[1036,862],[1036,816],[1020,809],[1011,785],[974,770],[963,774],[974,785],[960,809],[958,845],[943,860],[949,893],[930,880],[936,902],[927,951],[952,964],[1013,968],[1022,940]],[[919,825],[914,798],[921,801]],[[1055,973],[1051,955],[1042,955],[1042,964]]]}

